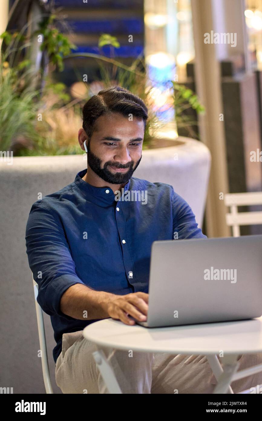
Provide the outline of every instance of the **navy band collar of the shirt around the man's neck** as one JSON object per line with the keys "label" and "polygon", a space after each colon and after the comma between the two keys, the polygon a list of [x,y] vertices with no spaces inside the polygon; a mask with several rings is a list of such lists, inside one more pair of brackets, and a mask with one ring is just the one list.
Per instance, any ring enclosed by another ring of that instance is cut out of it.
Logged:
{"label": "navy band collar of the shirt around the man's neck", "polygon": [[[93,196],[94,198],[98,199],[98,201],[101,201],[101,203],[116,203],[115,200],[115,193],[110,187],[95,187],[91,184],[87,183],[85,180],[82,180],[82,177],[87,173],[87,168],[85,170],[79,171],[77,173],[74,183],[79,187],[79,189],[83,193],[87,193],[88,195]],[[124,185],[123,189],[124,192],[126,190],[129,190],[130,187],[130,180],[128,180],[127,184]],[[121,191],[122,192],[122,191]],[[123,192],[123,194],[124,194]],[[99,203],[100,204],[100,203]]]}

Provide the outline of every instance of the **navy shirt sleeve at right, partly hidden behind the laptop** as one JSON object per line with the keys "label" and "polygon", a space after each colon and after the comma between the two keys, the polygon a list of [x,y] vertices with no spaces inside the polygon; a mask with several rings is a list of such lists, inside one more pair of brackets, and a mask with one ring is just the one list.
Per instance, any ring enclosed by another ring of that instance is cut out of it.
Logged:
{"label": "navy shirt sleeve at right, partly hidden behind the laptop", "polygon": [[173,240],[207,238],[206,235],[202,233],[201,228],[198,228],[196,217],[193,214],[191,207],[183,197],[174,192],[173,187],[171,201],[173,210]]}

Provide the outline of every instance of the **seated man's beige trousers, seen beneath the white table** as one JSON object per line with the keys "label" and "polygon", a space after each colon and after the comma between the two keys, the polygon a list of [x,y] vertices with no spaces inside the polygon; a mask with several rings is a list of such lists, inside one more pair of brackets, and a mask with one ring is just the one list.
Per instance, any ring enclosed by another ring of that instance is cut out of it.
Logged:
{"label": "seated man's beige trousers, seen beneath the white table", "polygon": [[[63,393],[109,393],[92,353],[102,349],[122,393],[212,393],[217,381],[204,355],[132,352],[96,346],[83,331],[64,333],[56,361],[56,384]],[[222,364],[222,358],[219,357]],[[239,355],[238,370],[262,363],[262,353]],[[262,372],[231,384],[234,393],[262,384]]]}

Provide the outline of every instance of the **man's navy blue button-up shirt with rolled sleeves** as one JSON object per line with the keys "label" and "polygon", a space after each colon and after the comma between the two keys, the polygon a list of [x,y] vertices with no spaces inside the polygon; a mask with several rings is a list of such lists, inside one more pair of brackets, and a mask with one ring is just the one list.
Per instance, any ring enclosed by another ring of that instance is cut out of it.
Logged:
{"label": "man's navy blue button-up shirt with rolled sleeves", "polygon": [[118,295],[148,293],[153,241],[206,238],[171,185],[132,177],[116,200],[110,187],[82,180],[86,172],[37,200],[26,224],[26,253],[38,284],[37,302],[51,316],[55,362],[63,333],[100,320],[77,320],[61,312],[61,297],[71,285]]}

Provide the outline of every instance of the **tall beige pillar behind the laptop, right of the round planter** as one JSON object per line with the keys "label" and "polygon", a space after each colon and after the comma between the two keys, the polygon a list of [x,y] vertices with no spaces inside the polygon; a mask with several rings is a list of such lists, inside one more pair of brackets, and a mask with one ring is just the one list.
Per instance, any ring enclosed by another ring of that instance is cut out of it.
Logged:
{"label": "tall beige pillar behind the laptop, right of the round planter", "polygon": [[191,0],[193,33],[195,41],[195,77],[200,102],[206,113],[199,118],[201,141],[212,155],[209,193],[206,203],[206,228],[208,237],[228,237],[230,229],[226,225],[224,200],[220,193],[228,192],[228,172],[225,147],[220,63],[215,44],[205,44],[204,34],[214,30],[212,2]]}

